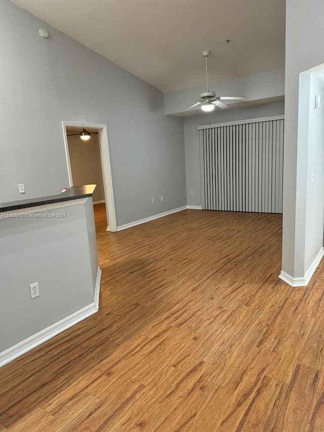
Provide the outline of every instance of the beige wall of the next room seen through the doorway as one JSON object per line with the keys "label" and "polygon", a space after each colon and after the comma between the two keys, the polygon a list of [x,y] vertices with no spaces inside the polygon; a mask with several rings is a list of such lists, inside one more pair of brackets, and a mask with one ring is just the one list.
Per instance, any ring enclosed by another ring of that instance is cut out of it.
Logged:
{"label": "beige wall of the next room seen through the doorway", "polygon": [[[75,131],[70,131],[67,134],[69,133],[75,133]],[[89,141],[83,141],[79,136],[68,136],[67,143],[73,185],[96,184],[93,202],[104,201],[105,193],[98,135],[92,134]]]}

